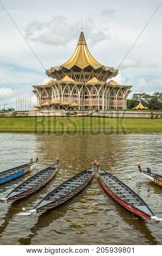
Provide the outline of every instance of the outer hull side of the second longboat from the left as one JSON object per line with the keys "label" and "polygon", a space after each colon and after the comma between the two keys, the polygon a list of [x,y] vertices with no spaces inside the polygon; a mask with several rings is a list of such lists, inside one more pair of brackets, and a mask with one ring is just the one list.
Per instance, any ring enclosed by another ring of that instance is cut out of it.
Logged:
{"label": "outer hull side of the second longboat from the left", "polygon": [[15,200],[18,200],[18,199],[22,199],[24,197],[27,197],[29,196],[29,194],[32,194],[34,193],[35,191],[39,190],[41,187],[45,186],[52,178],[53,176],[55,175],[56,173],[56,170],[55,172],[50,175],[47,179],[43,180],[40,184],[38,184],[37,186],[34,186],[33,188],[31,188],[30,190],[27,190],[27,191],[24,191],[23,193],[21,194],[17,194],[16,196],[14,197],[10,197],[7,199],[7,202],[13,202]]}

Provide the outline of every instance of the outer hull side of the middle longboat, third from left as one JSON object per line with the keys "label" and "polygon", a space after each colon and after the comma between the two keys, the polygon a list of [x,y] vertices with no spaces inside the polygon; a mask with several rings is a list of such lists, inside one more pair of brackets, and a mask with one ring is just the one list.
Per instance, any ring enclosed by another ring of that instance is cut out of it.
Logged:
{"label": "outer hull side of the middle longboat, third from left", "polygon": [[76,196],[77,193],[79,193],[80,191],[83,190],[84,187],[86,187],[89,182],[91,181],[92,179],[92,176],[91,175],[89,177],[89,179],[87,179],[82,185],[80,185],[79,187],[76,188],[76,190],[73,190],[71,193],[67,194],[65,197],[63,198],[60,198],[59,200],[51,203],[51,204],[48,204],[48,205],[45,205],[43,206],[42,208],[39,208],[39,209],[35,209],[36,212],[44,212],[44,211],[47,211],[49,209],[53,209],[53,208],[56,208],[57,206],[65,203],[67,200],[71,199],[72,197]]}

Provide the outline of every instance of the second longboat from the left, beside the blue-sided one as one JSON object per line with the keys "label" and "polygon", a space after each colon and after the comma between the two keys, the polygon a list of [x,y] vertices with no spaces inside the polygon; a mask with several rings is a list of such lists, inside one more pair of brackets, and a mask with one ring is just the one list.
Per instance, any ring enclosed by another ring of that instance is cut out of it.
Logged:
{"label": "second longboat from the left, beside the blue-sided one", "polygon": [[1,198],[1,202],[11,202],[34,193],[39,190],[42,186],[47,184],[57,172],[59,161],[54,163],[52,166],[41,170],[39,173],[31,176],[29,179],[23,181],[20,185],[14,188],[6,198]]}

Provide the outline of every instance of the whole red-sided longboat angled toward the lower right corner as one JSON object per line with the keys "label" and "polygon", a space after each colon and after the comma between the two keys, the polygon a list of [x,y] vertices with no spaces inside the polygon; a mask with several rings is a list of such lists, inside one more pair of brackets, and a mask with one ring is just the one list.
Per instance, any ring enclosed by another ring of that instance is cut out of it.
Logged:
{"label": "whole red-sided longboat angled toward the lower right corner", "polygon": [[117,203],[121,204],[133,214],[145,218],[148,221],[162,221],[162,218],[154,216],[144,200],[121,180],[99,167],[98,174],[102,187]]}

